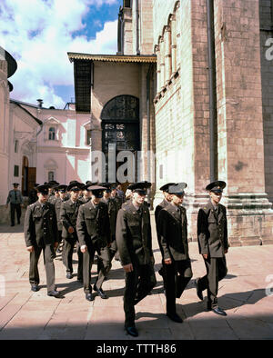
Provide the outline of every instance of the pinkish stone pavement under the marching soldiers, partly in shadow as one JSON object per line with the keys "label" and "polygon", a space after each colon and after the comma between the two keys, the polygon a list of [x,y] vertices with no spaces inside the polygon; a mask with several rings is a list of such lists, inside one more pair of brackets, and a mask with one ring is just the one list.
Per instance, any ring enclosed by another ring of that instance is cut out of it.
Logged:
{"label": "pinkish stone pavement under the marching soldiers, partly in shadow", "polygon": [[[273,245],[231,247],[228,273],[219,283],[218,302],[226,317],[206,311],[207,297],[197,298],[194,279],[205,274],[197,243],[189,243],[193,278],[177,300],[184,322],[166,316],[161,256],[152,216],[157,286],[136,305],[136,328],[141,340],[254,340],[273,339]],[[64,298],[46,295],[45,268],[39,263],[40,291],[30,291],[28,253],[23,225],[0,225],[0,339],[136,340],[124,331],[124,273],[119,262],[103,288],[109,298],[86,301],[82,284],[66,279],[65,266],[56,256],[56,285]],[[76,270],[76,254],[74,254]],[[93,283],[96,264],[92,267]],[[270,276],[271,275],[271,276]]]}

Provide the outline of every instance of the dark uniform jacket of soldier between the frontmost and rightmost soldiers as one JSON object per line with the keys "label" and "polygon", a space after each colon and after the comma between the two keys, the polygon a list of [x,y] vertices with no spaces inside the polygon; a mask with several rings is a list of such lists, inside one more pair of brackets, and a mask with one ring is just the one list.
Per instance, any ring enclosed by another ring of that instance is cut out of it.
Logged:
{"label": "dark uniform jacket of soldier between the frontmost and rightmost soldiers", "polygon": [[157,228],[164,260],[188,260],[186,209],[168,204],[158,214]]}

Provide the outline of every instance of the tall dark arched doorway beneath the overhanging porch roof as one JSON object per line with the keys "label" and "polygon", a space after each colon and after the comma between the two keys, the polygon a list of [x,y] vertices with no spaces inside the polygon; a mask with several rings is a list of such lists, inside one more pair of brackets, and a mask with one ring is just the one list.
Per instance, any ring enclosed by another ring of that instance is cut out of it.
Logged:
{"label": "tall dark arched doorway beneath the overhanging porch roof", "polygon": [[[106,155],[106,181],[109,180],[109,155],[115,152],[116,156],[122,151],[129,151],[135,155],[140,148],[139,138],[139,100],[135,96],[123,94],[112,98],[103,108],[102,120],[102,151]],[[115,156],[115,157],[116,157]],[[125,162],[116,161],[116,172]],[[135,170],[136,181],[137,173]],[[113,179],[113,178],[112,178]],[[115,180],[118,182],[118,178]],[[128,183],[120,183],[123,190]]]}

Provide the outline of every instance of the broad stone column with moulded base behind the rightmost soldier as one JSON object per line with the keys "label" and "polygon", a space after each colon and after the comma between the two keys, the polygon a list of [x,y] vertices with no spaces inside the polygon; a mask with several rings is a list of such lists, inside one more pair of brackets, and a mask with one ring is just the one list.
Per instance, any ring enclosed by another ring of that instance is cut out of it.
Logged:
{"label": "broad stone column with moulded base behind the rightmost soldier", "polygon": [[265,193],[258,0],[215,2],[218,178],[230,244],[273,244]]}

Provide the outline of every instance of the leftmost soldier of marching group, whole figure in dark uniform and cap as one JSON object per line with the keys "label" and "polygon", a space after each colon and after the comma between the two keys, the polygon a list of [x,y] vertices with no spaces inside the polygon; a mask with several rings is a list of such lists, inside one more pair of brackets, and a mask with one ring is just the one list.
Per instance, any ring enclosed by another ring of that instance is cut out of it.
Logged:
{"label": "leftmost soldier of marching group, whole figure in dark uniform and cap", "polygon": [[55,248],[58,245],[56,212],[47,203],[48,185],[37,186],[38,200],[27,206],[25,213],[25,244],[30,253],[29,282],[32,291],[39,290],[38,261],[43,250],[46,273],[47,294],[59,296],[55,285]]}

